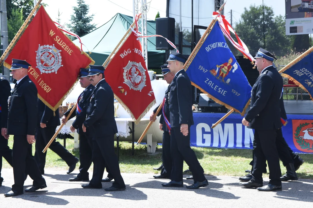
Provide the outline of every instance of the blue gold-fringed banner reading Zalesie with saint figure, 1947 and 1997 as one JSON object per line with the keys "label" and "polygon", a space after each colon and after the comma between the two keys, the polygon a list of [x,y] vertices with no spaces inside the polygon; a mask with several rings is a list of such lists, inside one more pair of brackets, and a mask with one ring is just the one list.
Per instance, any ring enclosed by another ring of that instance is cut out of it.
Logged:
{"label": "blue gold-fringed banner reading Zalesie with saint figure, 1947 and 1997", "polygon": [[251,98],[251,86],[230,51],[224,35],[215,22],[198,52],[186,67],[192,85],[209,98],[244,114]]}

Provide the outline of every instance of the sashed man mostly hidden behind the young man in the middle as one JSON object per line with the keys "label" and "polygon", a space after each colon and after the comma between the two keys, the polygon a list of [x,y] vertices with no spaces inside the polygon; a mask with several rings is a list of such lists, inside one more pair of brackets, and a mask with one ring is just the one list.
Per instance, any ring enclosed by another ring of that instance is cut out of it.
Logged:
{"label": "sashed man mostly hidden behind the young man in the middle", "polygon": [[[167,84],[171,84],[172,80],[174,79],[175,74],[170,72],[170,70],[167,68],[167,64],[161,66],[162,69],[162,75],[164,77],[164,80],[167,82]],[[172,159],[171,159],[171,145],[170,145],[170,125],[169,125],[169,119],[170,119],[170,111],[169,111],[169,104],[168,104],[168,88],[165,92],[164,96],[164,105],[162,106],[162,109],[160,110],[159,114],[157,116],[160,116],[160,124],[159,128],[163,131],[163,142],[162,142],[162,162],[163,166],[161,168],[161,174],[153,176],[154,178],[170,178],[171,172],[172,172]],[[150,120],[153,119],[154,114],[156,113],[157,109],[153,110]],[[163,112],[164,110],[164,112]],[[165,115],[165,116],[164,116]]]}

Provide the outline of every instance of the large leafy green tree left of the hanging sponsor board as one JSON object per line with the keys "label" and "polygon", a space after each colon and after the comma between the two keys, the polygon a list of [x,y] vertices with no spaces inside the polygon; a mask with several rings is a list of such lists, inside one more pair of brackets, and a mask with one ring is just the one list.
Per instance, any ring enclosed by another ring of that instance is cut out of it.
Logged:
{"label": "large leafy green tree left of the hanging sponsor board", "polygon": [[244,8],[239,22],[234,29],[242,41],[247,45],[251,54],[258,51],[260,47],[264,48],[265,31],[265,49],[274,53],[276,56],[282,56],[290,51],[290,37],[285,35],[284,17],[274,17],[272,7],[264,5],[264,29],[263,29],[263,7],[250,5],[249,9]]}

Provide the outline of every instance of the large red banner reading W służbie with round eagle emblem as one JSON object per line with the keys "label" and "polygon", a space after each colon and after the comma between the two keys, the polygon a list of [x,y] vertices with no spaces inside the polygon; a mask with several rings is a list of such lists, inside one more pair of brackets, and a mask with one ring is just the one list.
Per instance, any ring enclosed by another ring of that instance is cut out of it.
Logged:
{"label": "large red banner reading W s\u0142u\u017cbie with round eagle emblem", "polygon": [[35,83],[38,98],[54,111],[70,93],[80,68],[94,64],[55,26],[41,6],[13,50],[4,61],[11,68],[12,59],[26,60],[28,76]]}

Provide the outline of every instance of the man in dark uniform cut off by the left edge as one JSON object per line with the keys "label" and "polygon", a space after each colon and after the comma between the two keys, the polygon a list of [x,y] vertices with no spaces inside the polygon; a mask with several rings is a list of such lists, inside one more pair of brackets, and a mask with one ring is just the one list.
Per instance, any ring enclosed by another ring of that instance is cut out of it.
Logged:
{"label": "man in dark uniform cut off by the left edge", "polygon": [[3,177],[1,177],[2,157],[12,166],[12,149],[8,146],[8,135],[4,134],[5,124],[8,121],[8,97],[11,94],[11,86],[8,80],[0,75],[0,186]]}

